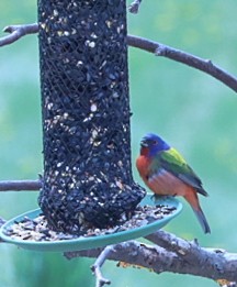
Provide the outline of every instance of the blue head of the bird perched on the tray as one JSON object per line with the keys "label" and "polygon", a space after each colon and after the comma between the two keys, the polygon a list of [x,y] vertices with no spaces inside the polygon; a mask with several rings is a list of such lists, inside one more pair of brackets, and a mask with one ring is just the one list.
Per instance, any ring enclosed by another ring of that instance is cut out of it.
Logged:
{"label": "blue head of the bird perched on the tray", "polygon": [[140,141],[140,154],[155,156],[157,153],[169,150],[170,146],[157,134],[148,133]]}

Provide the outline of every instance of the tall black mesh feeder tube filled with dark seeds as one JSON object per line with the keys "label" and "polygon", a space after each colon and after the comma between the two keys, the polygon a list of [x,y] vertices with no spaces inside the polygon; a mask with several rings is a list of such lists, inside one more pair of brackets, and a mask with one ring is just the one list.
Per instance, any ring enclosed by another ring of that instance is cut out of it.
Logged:
{"label": "tall black mesh feeder tube filled with dark seeds", "polygon": [[145,196],[131,168],[125,0],[38,0],[44,184],[57,231],[114,225]]}

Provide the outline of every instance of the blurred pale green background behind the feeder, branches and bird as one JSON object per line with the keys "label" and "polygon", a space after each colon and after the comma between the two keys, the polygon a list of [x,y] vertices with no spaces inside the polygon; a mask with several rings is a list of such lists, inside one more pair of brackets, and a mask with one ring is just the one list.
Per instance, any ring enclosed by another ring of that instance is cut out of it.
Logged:
{"label": "blurred pale green background behind the feeder, branches and bird", "polygon": [[[128,15],[132,34],[188,51],[237,75],[237,2],[144,1]],[[0,29],[36,21],[32,0],[1,0]],[[0,33],[0,36],[3,36]],[[202,207],[212,234],[203,235],[191,209],[166,230],[203,246],[237,246],[237,97],[210,76],[166,58],[129,49],[133,163],[148,131],[174,145],[203,179],[210,192]],[[37,36],[0,48],[0,180],[36,178],[42,173],[42,129]],[[140,181],[136,170],[134,177]],[[142,184],[143,185],[143,184]],[[37,207],[37,192],[1,192],[0,216],[11,218]],[[0,244],[0,287],[94,286],[91,260],[66,261],[57,253],[34,253]],[[108,262],[104,275],[113,287],[216,286],[194,276],[117,268]]]}

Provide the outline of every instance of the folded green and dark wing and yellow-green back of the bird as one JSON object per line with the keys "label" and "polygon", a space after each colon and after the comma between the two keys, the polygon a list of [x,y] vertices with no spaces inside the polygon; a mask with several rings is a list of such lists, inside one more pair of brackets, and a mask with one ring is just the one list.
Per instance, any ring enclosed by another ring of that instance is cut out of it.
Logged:
{"label": "folded green and dark wing and yellow-green back of the bird", "polygon": [[154,157],[149,169],[150,176],[159,173],[162,168],[178,177],[187,185],[195,188],[199,194],[207,196],[207,192],[202,187],[201,179],[187,164],[181,154],[173,147],[168,151],[160,152]]}

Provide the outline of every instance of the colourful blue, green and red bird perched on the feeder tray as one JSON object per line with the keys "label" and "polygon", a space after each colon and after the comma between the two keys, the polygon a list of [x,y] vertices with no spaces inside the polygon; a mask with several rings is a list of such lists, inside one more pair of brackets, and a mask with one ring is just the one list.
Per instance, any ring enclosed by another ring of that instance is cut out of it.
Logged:
{"label": "colourful blue, green and red bird perched on the feeder tray", "polygon": [[136,167],[155,196],[182,196],[192,207],[204,233],[211,233],[198,197],[198,194],[204,197],[208,194],[201,179],[174,147],[157,134],[146,134],[140,141]]}

